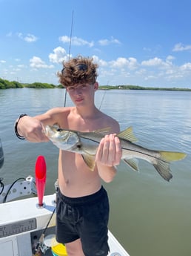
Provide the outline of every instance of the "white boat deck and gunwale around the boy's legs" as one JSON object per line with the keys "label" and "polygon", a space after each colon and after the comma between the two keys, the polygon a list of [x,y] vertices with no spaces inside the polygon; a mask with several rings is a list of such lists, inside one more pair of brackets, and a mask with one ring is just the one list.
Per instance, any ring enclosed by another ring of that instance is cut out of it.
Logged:
{"label": "white boat deck and gunwale around the boy's legs", "polygon": [[[31,256],[33,236],[36,232],[41,234],[47,226],[55,209],[55,197],[55,194],[45,196],[42,208],[38,207],[38,197],[1,203],[0,252],[7,256]],[[49,229],[55,225],[54,214]],[[108,235],[110,256],[130,256],[110,231]]]}

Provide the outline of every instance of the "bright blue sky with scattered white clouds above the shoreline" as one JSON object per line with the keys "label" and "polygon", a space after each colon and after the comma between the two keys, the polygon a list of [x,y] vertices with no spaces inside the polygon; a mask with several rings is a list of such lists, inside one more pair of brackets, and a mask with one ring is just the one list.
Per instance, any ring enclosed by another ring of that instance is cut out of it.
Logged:
{"label": "bright blue sky with scattered white clouds above the shoreline", "polygon": [[93,57],[99,85],[191,88],[190,0],[0,0],[0,77],[58,85]]}

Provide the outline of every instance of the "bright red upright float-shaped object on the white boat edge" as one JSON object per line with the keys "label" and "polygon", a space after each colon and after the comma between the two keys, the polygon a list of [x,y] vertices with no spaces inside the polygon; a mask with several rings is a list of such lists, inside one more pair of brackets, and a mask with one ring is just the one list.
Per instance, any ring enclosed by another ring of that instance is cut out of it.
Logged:
{"label": "bright red upright float-shaped object on the white boat edge", "polygon": [[36,189],[38,194],[38,206],[43,206],[43,197],[47,178],[47,165],[43,156],[36,160]]}

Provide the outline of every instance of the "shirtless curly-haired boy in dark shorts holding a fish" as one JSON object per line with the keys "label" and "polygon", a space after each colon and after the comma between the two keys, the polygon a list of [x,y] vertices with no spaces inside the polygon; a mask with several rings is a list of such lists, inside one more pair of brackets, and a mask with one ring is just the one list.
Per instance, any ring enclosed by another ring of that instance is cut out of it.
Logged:
{"label": "shirtless curly-haired boy in dark shorts holding a fish", "polygon": [[78,56],[63,63],[58,73],[74,107],[53,108],[38,116],[21,116],[17,135],[30,142],[49,141],[45,125],[77,131],[110,127],[98,146],[96,167],[90,171],[80,154],[59,151],[56,237],[64,243],[69,256],[107,256],[109,202],[101,180],[110,183],[121,160],[118,122],[96,108],[97,68],[93,59]]}

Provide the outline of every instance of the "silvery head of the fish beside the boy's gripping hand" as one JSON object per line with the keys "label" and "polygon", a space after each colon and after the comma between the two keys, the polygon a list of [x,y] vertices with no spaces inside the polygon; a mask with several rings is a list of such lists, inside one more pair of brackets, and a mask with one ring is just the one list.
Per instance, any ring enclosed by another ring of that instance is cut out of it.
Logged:
{"label": "silvery head of the fish beside the boy's gripping hand", "polygon": [[79,138],[74,131],[58,128],[57,125],[46,125],[44,133],[57,148],[73,151],[73,148],[78,147]]}

